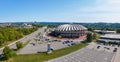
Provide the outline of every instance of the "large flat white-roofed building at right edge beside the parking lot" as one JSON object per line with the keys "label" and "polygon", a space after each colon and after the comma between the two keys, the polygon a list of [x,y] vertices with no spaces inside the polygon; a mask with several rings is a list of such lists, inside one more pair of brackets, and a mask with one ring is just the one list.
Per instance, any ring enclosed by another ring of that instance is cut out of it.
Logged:
{"label": "large flat white-roofed building at right edge beside the parking lot", "polygon": [[120,34],[105,34],[100,36],[99,42],[118,42],[120,43]]}

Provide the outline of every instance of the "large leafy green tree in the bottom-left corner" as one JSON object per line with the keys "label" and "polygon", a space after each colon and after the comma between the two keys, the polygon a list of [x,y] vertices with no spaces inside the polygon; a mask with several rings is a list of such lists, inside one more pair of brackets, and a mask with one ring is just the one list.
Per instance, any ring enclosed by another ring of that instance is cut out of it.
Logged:
{"label": "large leafy green tree in the bottom-left corner", "polygon": [[3,49],[3,57],[4,57],[4,59],[7,60],[7,59],[11,58],[12,56],[13,56],[12,50],[8,46],[6,46]]}

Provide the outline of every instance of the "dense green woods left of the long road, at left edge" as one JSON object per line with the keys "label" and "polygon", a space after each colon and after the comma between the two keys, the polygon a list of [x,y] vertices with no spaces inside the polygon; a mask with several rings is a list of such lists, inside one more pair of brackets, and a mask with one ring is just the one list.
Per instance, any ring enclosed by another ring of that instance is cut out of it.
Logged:
{"label": "dense green woods left of the long road, at left edge", "polygon": [[0,46],[20,39],[36,30],[37,28],[0,27]]}

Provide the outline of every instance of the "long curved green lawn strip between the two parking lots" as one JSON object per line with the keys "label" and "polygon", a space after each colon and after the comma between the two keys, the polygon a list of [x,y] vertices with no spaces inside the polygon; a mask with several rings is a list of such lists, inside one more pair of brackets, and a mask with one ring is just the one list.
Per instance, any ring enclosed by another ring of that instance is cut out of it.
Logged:
{"label": "long curved green lawn strip between the two parking lots", "polygon": [[69,54],[85,46],[87,46],[87,44],[78,44],[71,47],[55,50],[51,54],[39,53],[39,54],[18,55],[16,57],[13,57],[11,62],[43,62]]}

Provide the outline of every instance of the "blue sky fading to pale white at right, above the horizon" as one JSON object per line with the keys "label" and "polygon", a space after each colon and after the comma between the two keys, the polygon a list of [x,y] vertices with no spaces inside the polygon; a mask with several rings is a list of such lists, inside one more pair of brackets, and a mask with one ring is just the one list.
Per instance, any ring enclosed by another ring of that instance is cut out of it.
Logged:
{"label": "blue sky fading to pale white at right, above the horizon", "polygon": [[120,0],[0,0],[0,22],[120,22]]}

